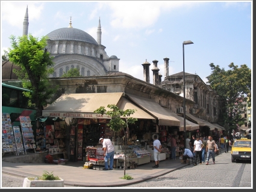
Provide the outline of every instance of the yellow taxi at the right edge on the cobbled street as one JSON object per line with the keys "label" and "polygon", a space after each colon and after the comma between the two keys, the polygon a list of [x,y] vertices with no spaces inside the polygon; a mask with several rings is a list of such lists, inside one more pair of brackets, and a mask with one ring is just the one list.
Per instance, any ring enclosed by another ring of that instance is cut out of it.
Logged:
{"label": "yellow taxi at the right edge on the cobbled street", "polygon": [[236,160],[251,160],[252,142],[251,139],[241,138],[234,140],[231,149],[231,161]]}

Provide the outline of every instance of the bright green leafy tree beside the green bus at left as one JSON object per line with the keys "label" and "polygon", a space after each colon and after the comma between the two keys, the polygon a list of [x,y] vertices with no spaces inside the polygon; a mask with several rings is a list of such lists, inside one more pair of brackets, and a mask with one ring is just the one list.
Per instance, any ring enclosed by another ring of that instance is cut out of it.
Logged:
{"label": "bright green leafy tree beside the green bus at left", "polygon": [[58,91],[58,86],[51,88],[49,74],[52,74],[53,62],[50,53],[45,49],[47,37],[38,38],[30,35],[16,37],[11,35],[11,48],[8,57],[20,70],[14,70],[22,81],[23,88],[31,92],[23,93],[29,98],[29,105],[36,107],[36,116],[42,116],[42,110],[51,104],[52,96]]}

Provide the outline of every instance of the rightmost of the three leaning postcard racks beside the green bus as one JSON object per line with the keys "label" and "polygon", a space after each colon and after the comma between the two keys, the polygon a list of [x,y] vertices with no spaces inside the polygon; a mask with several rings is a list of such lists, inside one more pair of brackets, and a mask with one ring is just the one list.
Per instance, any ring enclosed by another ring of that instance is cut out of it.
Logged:
{"label": "rightmost of the three leaning postcard racks beside the green bus", "polygon": [[23,144],[25,152],[27,154],[28,149],[34,149],[36,152],[36,142],[34,140],[34,133],[31,125],[31,119],[29,116],[20,116],[20,125],[22,129]]}

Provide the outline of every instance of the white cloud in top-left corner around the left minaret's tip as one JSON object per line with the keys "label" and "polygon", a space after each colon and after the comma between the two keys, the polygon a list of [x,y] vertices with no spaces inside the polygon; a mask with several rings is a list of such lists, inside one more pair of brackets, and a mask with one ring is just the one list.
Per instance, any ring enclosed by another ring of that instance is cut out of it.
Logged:
{"label": "white cloud in top-left corner around the left minaret's tip", "polygon": [[[28,5],[28,19],[29,22],[40,19],[44,4],[42,2],[1,2],[1,19],[2,21],[8,22],[11,26],[22,28],[20,23],[23,23],[26,8]],[[23,7],[23,8],[22,8]],[[17,17],[19,16],[19,17]],[[23,17],[22,17],[23,16]]]}

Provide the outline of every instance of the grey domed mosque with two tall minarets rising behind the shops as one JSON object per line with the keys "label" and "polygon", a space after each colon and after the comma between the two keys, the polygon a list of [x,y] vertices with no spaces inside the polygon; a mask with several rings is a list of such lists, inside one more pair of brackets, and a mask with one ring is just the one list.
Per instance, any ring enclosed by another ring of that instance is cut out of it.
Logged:
{"label": "grey domed mosque with two tall minarets rising behind the shops", "polygon": [[[23,34],[28,35],[28,7],[23,21]],[[72,27],[70,17],[69,26],[56,29],[47,34],[46,49],[54,57],[54,73],[49,77],[61,77],[69,69],[77,68],[81,76],[106,76],[110,72],[119,71],[117,56],[108,56],[105,46],[101,44],[101,20],[99,19],[97,41],[87,32]],[[10,62],[3,62],[3,70],[16,68]],[[17,79],[13,71],[3,73],[3,79]]]}

